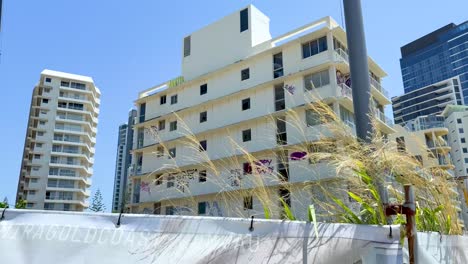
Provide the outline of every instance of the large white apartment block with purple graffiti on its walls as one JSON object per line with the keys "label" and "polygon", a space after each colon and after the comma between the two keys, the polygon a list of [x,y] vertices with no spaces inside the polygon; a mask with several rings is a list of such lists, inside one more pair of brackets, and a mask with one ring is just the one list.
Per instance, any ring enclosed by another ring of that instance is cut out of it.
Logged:
{"label": "large white apartment block with purple graffiti on its walls", "polygon": [[[182,76],[135,102],[132,212],[264,217],[261,192],[306,218],[319,191],[304,187],[334,175],[303,158],[327,133],[306,106],[323,100],[354,129],[346,43],[330,17],[272,38],[252,5],[186,36]],[[389,134],[386,73],[371,58],[369,69],[378,128]]]}

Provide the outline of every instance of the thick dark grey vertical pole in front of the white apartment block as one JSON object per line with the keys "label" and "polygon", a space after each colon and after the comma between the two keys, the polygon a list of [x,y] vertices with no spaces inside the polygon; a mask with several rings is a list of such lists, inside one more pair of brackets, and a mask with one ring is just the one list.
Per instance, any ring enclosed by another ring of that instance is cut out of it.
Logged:
{"label": "thick dark grey vertical pole in front of the white apartment block", "polygon": [[361,0],[343,0],[343,4],[353,88],[353,107],[356,117],[356,135],[360,140],[369,142],[369,133],[372,131],[369,117],[370,80]]}

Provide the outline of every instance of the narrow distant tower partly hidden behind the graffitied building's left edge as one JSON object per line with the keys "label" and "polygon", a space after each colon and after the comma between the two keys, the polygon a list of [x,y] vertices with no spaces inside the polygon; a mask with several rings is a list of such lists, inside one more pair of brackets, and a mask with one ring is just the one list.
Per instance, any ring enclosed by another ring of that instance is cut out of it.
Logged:
{"label": "narrow distant tower partly hidden behind the graffitied building's left edge", "polygon": [[125,200],[128,168],[132,162],[130,151],[133,146],[133,124],[135,123],[136,114],[136,110],[130,110],[127,123],[119,126],[112,211],[120,211]]}

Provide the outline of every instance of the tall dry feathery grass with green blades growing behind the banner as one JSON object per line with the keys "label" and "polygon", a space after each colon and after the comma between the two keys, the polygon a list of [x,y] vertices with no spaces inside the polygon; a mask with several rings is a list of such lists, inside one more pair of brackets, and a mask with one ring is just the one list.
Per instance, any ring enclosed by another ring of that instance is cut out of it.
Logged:
{"label": "tall dry feathery grass with green blades growing behind the banner", "polygon": [[[193,194],[191,186],[196,183],[196,176],[195,179],[190,179],[189,176],[177,176],[185,178],[177,179],[176,183],[180,188],[175,189],[180,190],[181,195],[177,199],[168,196],[168,199],[164,199],[164,204],[183,206],[187,208],[185,214],[196,215],[200,199],[213,199],[214,196],[215,200],[224,205],[224,216],[249,217],[253,214],[266,218],[307,220],[308,212],[299,212],[288,204],[290,197],[278,195],[278,190],[284,190],[283,193],[295,193],[295,201],[305,203],[301,207],[305,208],[304,210],[308,210],[309,205],[313,204],[319,221],[373,225],[404,222],[404,217],[401,215],[385,216],[379,186],[383,186],[387,191],[390,202],[403,203],[402,186],[411,184],[414,186],[418,202],[416,215],[418,230],[461,234],[457,194],[454,192],[456,186],[447,170],[424,167],[410,153],[399,151],[395,142],[388,141],[386,136],[379,132],[377,129],[379,121],[375,118],[373,118],[374,133],[369,135],[370,143],[364,143],[358,142],[352,129],[323,101],[317,100],[307,104],[305,108],[320,116],[322,124],[312,128],[316,129],[316,140],[312,141],[308,136],[306,130],[311,128],[307,128],[300,111],[286,109],[280,115],[272,114],[266,120],[261,119],[261,122],[268,123],[270,131],[276,131],[275,120],[283,118],[288,129],[298,131],[295,133],[299,135],[296,141],[301,143],[278,146],[273,150],[266,148],[250,152],[245,145],[238,143],[228,127],[218,131],[225,135],[225,142],[228,142],[224,149],[216,150],[217,153],[227,156],[220,159],[210,157],[207,152],[200,152],[199,136],[192,132],[183,118],[174,113],[178,121],[178,133],[181,136],[178,140],[188,147],[193,155],[167,159],[163,167],[143,176],[141,180],[155,184],[156,181],[164,179],[165,184],[170,174],[181,175],[190,167],[181,166],[176,162],[184,160],[197,164],[198,171],[206,170],[209,176],[205,184],[211,184],[218,190],[209,197]],[[155,142],[164,142],[161,133],[155,129],[147,129],[146,134],[153,137]],[[276,140],[275,137],[274,133],[265,133],[262,138],[255,140],[260,143],[264,141],[267,145],[272,140]],[[160,146],[167,156],[169,147],[166,144]],[[425,146],[421,148],[425,152],[430,152]],[[287,161],[287,156],[278,155],[285,150],[306,153],[305,158],[309,162],[301,167],[301,170],[308,175],[305,181],[299,183],[283,181],[276,170],[268,171],[269,167],[259,162],[266,156]],[[232,186],[233,179],[226,174],[232,176],[230,169],[242,168],[244,162],[252,164],[252,172],[249,175],[238,175],[238,178],[234,179],[238,186]],[[320,171],[315,170],[317,166],[331,168],[331,177],[320,175]],[[268,173],[264,173],[265,171]],[[172,192],[174,188],[170,190]],[[253,196],[259,201],[261,208],[245,210],[241,198],[248,196]]]}

